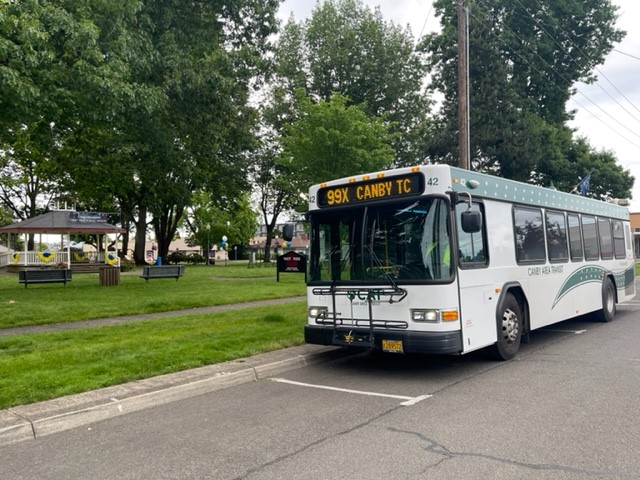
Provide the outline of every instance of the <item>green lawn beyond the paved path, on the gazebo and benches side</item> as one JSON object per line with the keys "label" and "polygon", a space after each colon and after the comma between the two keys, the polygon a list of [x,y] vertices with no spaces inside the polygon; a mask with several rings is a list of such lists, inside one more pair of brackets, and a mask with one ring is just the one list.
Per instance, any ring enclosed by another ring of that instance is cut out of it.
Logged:
{"label": "green lawn beyond the paved path, on the gazebo and benches side", "polygon": [[97,274],[76,274],[59,283],[18,284],[15,274],[0,275],[0,328],[73,322],[141,313],[305,294],[304,275],[281,274],[274,267],[235,265],[187,266],[184,277],[139,278],[140,270],[123,273],[120,285],[103,287]]}

